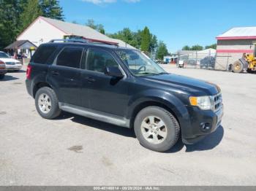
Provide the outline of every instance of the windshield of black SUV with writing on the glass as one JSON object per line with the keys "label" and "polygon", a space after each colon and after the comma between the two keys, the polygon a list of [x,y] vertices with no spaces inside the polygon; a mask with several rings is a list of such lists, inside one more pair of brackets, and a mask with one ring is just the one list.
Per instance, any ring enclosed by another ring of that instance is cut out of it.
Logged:
{"label": "windshield of black SUV with writing on the glass", "polygon": [[135,76],[166,74],[166,71],[138,50],[116,50]]}

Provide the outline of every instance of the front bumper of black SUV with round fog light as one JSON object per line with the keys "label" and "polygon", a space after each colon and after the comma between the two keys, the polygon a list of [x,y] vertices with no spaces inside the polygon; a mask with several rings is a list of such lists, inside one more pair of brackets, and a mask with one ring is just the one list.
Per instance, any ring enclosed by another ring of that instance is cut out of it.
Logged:
{"label": "front bumper of black SUV with round fog light", "polygon": [[203,111],[197,106],[187,106],[190,116],[190,127],[182,128],[182,141],[184,144],[195,144],[204,139],[208,134],[213,133],[222,122],[223,105],[217,112],[210,110]]}

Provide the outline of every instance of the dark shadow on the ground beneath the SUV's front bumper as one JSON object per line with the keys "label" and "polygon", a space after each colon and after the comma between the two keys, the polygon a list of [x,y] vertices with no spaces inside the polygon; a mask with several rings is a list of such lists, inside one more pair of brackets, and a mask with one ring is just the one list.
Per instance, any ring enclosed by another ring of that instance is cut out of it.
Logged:
{"label": "dark shadow on the ground beneath the SUV's front bumper", "polygon": [[217,147],[217,145],[222,141],[224,136],[224,128],[222,125],[217,128],[217,130],[214,133],[211,133],[210,135],[206,136],[205,139],[197,142],[196,144],[184,144],[180,139],[178,139],[178,142],[174,147],[172,147],[168,152],[178,152],[183,147],[186,147],[186,152],[194,152],[194,151],[204,151],[204,150],[210,150]]}

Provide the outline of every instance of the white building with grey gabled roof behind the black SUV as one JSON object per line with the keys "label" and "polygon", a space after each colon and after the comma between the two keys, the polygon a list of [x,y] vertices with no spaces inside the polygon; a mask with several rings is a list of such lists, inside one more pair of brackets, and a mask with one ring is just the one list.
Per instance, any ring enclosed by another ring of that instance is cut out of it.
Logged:
{"label": "white building with grey gabled roof behind the black SUV", "polygon": [[97,39],[102,42],[116,42],[120,47],[135,48],[119,39],[111,39],[89,26],[66,23],[47,17],[37,17],[37,19],[17,37],[17,41],[29,40],[29,42],[38,47],[40,44],[49,42],[52,39],[63,39],[64,35],[83,36],[86,39]]}

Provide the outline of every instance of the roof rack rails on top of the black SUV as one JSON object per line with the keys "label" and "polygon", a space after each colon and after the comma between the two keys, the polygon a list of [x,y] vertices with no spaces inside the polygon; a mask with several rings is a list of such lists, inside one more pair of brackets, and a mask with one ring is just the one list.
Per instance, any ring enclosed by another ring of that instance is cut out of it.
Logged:
{"label": "roof rack rails on top of the black SUV", "polygon": [[118,47],[117,42],[107,42],[102,41],[98,39],[86,39],[83,37],[83,39],[52,39],[50,42],[80,42],[80,43],[95,43],[95,44],[108,44]]}

